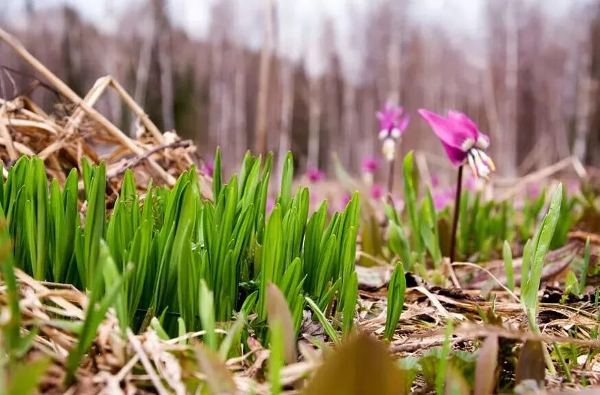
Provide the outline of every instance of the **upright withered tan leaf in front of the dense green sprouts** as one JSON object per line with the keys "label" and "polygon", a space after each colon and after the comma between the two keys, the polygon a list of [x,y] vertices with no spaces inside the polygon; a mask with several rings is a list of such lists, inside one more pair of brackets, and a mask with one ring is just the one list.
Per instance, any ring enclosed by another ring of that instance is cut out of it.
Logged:
{"label": "upright withered tan leaf in front of the dense green sprouts", "polygon": [[266,289],[266,310],[269,326],[277,320],[284,330],[284,359],[286,363],[294,363],[296,357],[296,335],[294,321],[286,297],[275,284],[269,283]]}

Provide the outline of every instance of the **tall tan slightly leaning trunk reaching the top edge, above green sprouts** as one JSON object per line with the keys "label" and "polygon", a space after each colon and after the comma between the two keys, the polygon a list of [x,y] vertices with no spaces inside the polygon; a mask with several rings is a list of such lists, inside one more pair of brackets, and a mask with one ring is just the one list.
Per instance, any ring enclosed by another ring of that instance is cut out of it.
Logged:
{"label": "tall tan slightly leaning trunk reaching the top edge, above green sprouts", "polygon": [[256,107],[256,151],[264,153],[266,150],[266,118],[268,105],[268,87],[270,79],[270,63],[273,52],[275,24],[274,0],[265,0],[264,41],[260,53],[260,71],[258,80],[258,102]]}

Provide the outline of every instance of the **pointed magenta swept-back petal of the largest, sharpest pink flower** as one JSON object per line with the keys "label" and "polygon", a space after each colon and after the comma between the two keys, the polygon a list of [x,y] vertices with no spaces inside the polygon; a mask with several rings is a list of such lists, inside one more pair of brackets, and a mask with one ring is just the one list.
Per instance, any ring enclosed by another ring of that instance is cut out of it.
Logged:
{"label": "pointed magenta swept-back petal of the largest, sharpest pink flower", "polygon": [[463,126],[461,122],[441,117],[426,109],[419,109],[419,114],[429,123],[433,133],[441,139],[445,146],[457,148],[465,152],[475,144],[477,139],[476,131]]}

